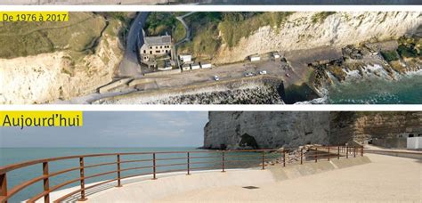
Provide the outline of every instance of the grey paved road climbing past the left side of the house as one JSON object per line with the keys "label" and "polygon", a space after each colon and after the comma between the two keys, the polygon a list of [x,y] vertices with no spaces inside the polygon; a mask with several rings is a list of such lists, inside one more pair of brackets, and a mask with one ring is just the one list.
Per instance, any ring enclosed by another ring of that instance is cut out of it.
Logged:
{"label": "grey paved road climbing past the left side of the house", "polygon": [[119,77],[138,77],[141,75],[141,66],[138,61],[138,47],[143,45],[142,28],[149,12],[139,12],[136,16],[129,34],[123,60],[118,69]]}

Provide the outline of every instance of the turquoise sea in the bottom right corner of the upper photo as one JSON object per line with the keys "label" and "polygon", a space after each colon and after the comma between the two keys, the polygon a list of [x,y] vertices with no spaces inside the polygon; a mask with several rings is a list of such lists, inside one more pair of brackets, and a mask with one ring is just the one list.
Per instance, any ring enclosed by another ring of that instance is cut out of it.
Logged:
{"label": "turquoise sea in the bottom right corner of the upper photo", "polygon": [[394,81],[371,78],[332,85],[328,103],[422,104],[422,76],[404,76]]}

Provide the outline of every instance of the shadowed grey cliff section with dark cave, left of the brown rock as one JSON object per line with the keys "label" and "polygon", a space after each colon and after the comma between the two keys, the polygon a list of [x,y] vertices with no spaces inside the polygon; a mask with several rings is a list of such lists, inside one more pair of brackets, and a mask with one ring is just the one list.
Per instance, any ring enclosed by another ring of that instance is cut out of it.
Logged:
{"label": "shadowed grey cliff section with dark cave, left of the brown rock", "polygon": [[329,112],[210,112],[204,131],[209,149],[327,144]]}

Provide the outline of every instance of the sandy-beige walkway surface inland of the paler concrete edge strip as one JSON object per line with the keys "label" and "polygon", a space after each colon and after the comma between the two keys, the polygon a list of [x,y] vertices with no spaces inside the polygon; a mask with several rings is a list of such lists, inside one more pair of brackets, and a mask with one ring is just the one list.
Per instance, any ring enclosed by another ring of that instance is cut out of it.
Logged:
{"label": "sandy-beige walkway surface inland of the paler concrete edge strip", "polygon": [[190,202],[421,202],[422,160],[367,154],[372,163],[277,183],[209,188],[168,196]]}

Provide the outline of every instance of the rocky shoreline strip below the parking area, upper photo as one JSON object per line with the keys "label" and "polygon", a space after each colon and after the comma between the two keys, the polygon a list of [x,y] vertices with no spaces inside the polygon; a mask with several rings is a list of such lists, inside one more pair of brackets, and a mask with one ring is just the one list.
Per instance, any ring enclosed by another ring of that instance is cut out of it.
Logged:
{"label": "rocky shoreline strip below the parking area, upper photo", "polygon": [[284,104],[278,77],[249,77],[101,99],[95,104]]}

